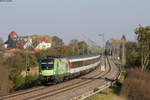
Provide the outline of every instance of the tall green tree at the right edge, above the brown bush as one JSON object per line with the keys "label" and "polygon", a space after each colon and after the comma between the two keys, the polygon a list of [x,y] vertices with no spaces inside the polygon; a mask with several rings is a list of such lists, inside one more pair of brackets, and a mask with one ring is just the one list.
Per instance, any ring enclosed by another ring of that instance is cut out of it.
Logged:
{"label": "tall green tree at the right edge, above the brown bush", "polygon": [[150,66],[150,26],[142,27],[139,26],[135,29],[137,35],[140,58],[141,58],[141,69],[146,70]]}

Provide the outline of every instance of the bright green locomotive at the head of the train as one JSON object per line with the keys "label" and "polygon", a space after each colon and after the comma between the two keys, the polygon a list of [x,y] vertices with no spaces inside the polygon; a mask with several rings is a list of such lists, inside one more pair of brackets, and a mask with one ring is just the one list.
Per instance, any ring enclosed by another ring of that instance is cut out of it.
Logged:
{"label": "bright green locomotive at the head of the train", "polygon": [[40,61],[40,80],[42,83],[63,81],[69,74],[69,62],[66,58],[47,58]]}

